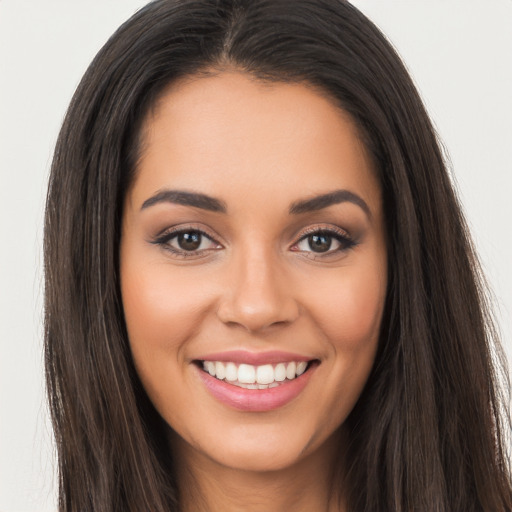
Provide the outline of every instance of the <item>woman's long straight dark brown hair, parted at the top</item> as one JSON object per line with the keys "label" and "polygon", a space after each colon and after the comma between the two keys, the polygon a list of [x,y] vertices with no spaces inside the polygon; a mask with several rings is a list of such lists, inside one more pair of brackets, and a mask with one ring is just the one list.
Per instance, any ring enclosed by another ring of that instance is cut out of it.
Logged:
{"label": "woman's long straight dark brown hair, parted at the top", "polygon": [[157,0],[87,70],[57,142],[46,207],[59,510],[179,510],[165,425],[129,351],[120,219],[148,109],[172,81],[226,66],[324,91],[352,116],[376,164],[389,288],[375,366],[347,420],[339,485],[349,510],[512,510],[510,422],[497,386],[507,373],[468,229],[403,64],[343,0]]}

